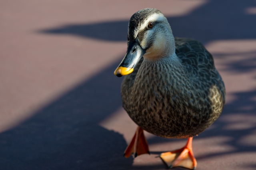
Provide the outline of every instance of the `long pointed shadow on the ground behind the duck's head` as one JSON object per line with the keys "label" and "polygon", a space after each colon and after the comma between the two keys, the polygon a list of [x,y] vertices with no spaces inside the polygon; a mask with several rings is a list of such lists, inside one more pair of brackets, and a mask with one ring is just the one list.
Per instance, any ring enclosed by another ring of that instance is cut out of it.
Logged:
{"label": "long pointed shadow on the ground behind the duck's head", "polygon": [[[203,43],[214,40],[255,39],[256,15],[246,14],[246,9],[254,6],[255,0],[211,0],[188,15],[166,18],[177,37],[195,38]],[[120,20],[70,24],[39,32],[71,34],[105,41],[126,41],[128,22],[129,20]]]}

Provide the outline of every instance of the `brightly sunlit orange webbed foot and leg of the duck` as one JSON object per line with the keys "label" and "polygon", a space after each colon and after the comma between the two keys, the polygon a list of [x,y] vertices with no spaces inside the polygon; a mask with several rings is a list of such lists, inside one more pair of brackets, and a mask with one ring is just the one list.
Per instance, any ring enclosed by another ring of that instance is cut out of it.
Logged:
{"label": "brightly sunlit orange webbed foot and leg of the duck", "polygon": [[196,168],[196,158],[192,151],[192,139],[188,138],[187,144],[178,150],[164,152],[160,154],[160,158],[167,164],[168,168],[181,166],[188,169]]}

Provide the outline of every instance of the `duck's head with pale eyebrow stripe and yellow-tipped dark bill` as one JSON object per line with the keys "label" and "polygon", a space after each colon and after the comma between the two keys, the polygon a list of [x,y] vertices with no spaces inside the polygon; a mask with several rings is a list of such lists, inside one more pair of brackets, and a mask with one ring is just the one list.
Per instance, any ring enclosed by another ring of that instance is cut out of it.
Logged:
{"label": "duck's head with pale eyebrow stripe and yellow-tipped dark bill", "polygon": [[172,30],[162,12],[145,8],[132,15],[128,24],[127,52],[114,74],[130,74],[142,56],[158,60],[175,54]]}

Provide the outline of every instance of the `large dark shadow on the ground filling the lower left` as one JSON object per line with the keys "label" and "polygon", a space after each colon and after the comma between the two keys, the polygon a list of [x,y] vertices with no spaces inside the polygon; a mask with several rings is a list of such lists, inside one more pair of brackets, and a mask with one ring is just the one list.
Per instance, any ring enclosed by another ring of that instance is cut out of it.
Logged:
{"label": "large dark shadow on the ground filling the lower left", "polygon": [[121,161],[126,148],[123,136],[98,126],[121,106],[121,79],[113,75],[118,64],[0,134],[1,166],[5,170],[112,170],[131,166],[132,158]]}

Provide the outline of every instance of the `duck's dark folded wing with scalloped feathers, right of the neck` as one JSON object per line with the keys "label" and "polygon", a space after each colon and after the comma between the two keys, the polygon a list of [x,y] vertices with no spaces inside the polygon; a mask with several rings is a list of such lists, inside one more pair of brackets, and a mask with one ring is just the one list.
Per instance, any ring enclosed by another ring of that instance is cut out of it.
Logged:
{"label": "duck's dark folded wing with scalloped feathers, right of the neck", "polygon": [[225,98],[225,86],[214,66],[212,54],[197,40],[175,38],[176,55],[195,87],[216,85]]}

